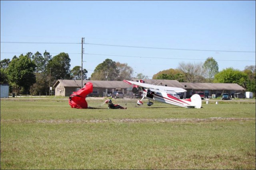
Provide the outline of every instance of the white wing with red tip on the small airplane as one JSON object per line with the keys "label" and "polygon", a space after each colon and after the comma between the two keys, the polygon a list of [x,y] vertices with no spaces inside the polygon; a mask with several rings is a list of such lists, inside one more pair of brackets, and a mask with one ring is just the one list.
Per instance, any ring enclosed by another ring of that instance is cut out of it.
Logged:
{"label": "white wing with red tip on the small airplane", "polygon": [[129,80],[123,80],[127,84],[134,84],[137,86],[141,86],[144,88],[150,88],[150,89],[156,89],[156,90],[164,90],[164,91],[174,91],[176,93],[182,93],[186,92],[187,90],[183,88],[178,88],[178,87],[168,87],[168,86],[156,86],[152,84],[146,84],[146,83],[140,83],[140,82],[134,82],[134,81],[129,81]]}

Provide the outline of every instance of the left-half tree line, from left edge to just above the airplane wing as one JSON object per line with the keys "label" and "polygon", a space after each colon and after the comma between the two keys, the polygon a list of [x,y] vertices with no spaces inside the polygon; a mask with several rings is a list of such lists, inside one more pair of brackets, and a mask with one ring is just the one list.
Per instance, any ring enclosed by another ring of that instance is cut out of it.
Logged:
{"label": "left-half tree line, from left edge to just above the airplane wing", "polygon": [[[43,55],[29,52],[26,55],[16,55],[10,59],[1,61],[1,84],[9,84],[9,92],[16,94],[47,95],[50,87],[57,80],[130,80],[133,74],[132,67],[126,63],[114,62],[106,59],[99,64],[91,77],[87,77],[88,71],[81,66],[74,66],[70,70],[70,58],[67,53],[60,53],[54,57],[47,51]],[[138,74],[138,78],[147,78]]]}

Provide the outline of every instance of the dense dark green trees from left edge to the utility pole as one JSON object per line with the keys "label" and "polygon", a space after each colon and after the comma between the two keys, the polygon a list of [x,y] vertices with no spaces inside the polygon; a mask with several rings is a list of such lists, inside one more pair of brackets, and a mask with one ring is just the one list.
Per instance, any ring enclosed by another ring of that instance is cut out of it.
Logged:
{"label": "dense dark green trees from left edge to the utility pole", "polygon": [[[29,52],[12,60],[1,61],[1,84],[8,83],[10,92],[16,94],[45,95],[50,86],[59,79],[81,78],[79,66],[70,70],[70,58],[67,53],[60,53],[54,57],[47,51],[42,55]],[[86,79],[87,70],[83,69]],[[49,93],[48,93],[49,94]]]}

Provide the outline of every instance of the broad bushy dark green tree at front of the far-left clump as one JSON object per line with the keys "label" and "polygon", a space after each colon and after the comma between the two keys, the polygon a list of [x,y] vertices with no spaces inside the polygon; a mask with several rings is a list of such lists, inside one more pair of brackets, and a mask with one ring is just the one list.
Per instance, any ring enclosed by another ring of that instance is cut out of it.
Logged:
{"label": "broad bushy dark green tree at front of the far-left clump", "polygon": [[36,64],[28,55],[14,58],[6,68],[6,74],[11,86],[21,90],[23,94],[29,93],[29,88],[36,82],[34,74]]}

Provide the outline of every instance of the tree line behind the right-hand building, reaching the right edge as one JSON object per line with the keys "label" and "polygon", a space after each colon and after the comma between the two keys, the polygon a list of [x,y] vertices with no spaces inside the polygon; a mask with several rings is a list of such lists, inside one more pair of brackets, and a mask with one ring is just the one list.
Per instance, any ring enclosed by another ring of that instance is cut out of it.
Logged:
{"label": "tree line behind the right-hand building, reaching the right edge", "polygon": [[204,63],[181,62],[177,69],[170,68],[154,74],[153,79],[178,80],[179,82],[236,83],[255,96],[255,65],[246,66],[243,71],[229,67],[218,70],[218,63],[208,57]]}

